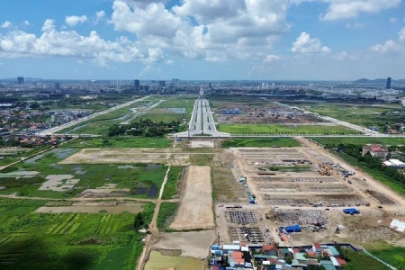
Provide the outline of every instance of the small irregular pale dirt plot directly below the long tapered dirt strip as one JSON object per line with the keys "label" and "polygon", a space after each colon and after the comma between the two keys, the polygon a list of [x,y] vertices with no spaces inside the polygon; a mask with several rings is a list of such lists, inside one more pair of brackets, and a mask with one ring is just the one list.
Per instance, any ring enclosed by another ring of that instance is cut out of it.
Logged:
{"label": "small irregular pale dirt plot directly below the long tapered dirt strip", "polygon": [[181,250],[181,257],[207,257],[214,240],[213,230],[162,233],[153,249]]}

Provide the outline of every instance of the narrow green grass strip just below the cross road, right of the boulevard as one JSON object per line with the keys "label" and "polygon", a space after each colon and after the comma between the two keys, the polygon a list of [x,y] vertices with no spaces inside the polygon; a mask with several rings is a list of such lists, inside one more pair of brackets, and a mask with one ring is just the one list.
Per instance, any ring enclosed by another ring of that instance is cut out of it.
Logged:
{"label": "narrow green grass strip just below the cross road, right of the boulevard", "polygon": [[299,147],[300,143],[292,138],[243,138],[228,139],[222,142],[223,148],[282,148]]}

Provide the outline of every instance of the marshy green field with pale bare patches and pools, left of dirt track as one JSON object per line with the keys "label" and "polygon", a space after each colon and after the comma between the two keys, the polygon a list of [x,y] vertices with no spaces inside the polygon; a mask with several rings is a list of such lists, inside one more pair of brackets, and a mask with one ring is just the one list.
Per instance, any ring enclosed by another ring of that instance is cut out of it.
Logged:
{"label": "marshy green field with pale bare patches and pools, left of dirt track", "polygon": [[58,164],[76,150],[55,148],[0,171],[0,194],[45,197],[155,198],[166,175],[158,164]]}

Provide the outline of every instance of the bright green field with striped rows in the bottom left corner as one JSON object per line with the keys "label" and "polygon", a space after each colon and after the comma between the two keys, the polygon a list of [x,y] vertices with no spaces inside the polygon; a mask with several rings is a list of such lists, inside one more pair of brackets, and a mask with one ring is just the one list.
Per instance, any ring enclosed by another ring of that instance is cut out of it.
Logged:
{"label": "bright green field with striped rows in the bottom left corner", "polygon": [[135,268],[143,243],[134,214],[33,212],[44,203],[0,199],[1,269]]}

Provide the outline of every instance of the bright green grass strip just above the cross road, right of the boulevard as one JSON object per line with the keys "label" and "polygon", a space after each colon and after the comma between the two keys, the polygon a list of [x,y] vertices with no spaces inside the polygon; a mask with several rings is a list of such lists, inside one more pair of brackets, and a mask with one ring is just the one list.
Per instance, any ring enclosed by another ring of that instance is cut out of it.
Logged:
{"label": "bright green grass strip just above the cross road, right of the boulevard", "polygon": [[274,135],[328,135],[360,134],[343,126],[322,125],[267,125],[267,124],[220,124],[218,130],[230,134],[274,134]]}

